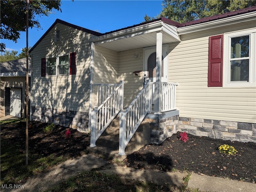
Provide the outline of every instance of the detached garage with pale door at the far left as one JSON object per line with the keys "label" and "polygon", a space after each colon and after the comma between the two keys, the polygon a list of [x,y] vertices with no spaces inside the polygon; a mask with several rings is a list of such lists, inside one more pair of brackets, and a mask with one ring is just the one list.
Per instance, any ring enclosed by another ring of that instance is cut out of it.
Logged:
{"label": "detached garage with pale door at the far left", "polygon": [[[27,59],[7,61],[0,65],[0,115],[12,115],[14,117],[26,117],[26,63]],[[31,58],[28,58],[29,93]],[[30,114],[30,106],[28,106]]]}

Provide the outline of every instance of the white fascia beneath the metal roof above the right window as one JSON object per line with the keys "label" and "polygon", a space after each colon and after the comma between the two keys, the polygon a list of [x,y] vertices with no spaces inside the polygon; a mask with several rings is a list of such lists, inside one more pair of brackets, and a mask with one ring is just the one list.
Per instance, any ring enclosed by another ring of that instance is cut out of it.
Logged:
{"label": "white fascia beneath the metal roof above the right window", "polygon": [[245,21],[253,21],[256,20],[256,12],[250,12],[247,14],[241,14],[237,16],[232,16],[229,18],[222,18],[219,20],[214,20],[210,22],[194,24],[191,26],[185,26],[177,29],[178,35],[190,34],[193,32],[199,32],[203,30],[209,30],[212,28],[223,27],[232,25],[235,23],[245,22]]}

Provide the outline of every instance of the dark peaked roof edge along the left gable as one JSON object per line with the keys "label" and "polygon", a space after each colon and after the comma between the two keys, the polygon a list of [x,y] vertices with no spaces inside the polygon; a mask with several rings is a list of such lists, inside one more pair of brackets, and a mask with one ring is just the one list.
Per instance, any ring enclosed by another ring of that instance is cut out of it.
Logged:
{"label": "dark peaked roof edge along the left gable", "polygon": [[63,24],[63,25],[75,28],[75,29],[83,31],[83,32],[87,32],[87,33],[95,35],[95,36],[101,36],[102,35],[102,33],[95,32],[95,31],[92,31],[92,30],[89,30],[89,29],[86,29],[86,28],[82,28],[80,26],[77,26],[77,25],[65,22],[65,21],[60,20],[60,19],[56,19],[55,22],[50,26],[50,28],[43,34],[43,36],[36,42],[36,44],[34,44],[34,46],[28,51],[29,53],[42,41],[42,39],[50,32],[50,30],[52,30],[52,28],[57,23],[60,23],[60,24]]}

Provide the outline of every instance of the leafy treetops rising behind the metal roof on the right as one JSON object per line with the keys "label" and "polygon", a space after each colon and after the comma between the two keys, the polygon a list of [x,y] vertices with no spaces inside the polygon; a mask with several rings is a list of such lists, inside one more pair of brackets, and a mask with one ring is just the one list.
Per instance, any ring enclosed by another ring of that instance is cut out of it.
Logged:
{"label": "leafy treetops rising behind the metal roof on the right", "polygon": [[[164,0],[163,10],[158,17],[185,23],[200,18],[223,14],[251,6],[256,6],[255,0]],[[145,21],[150,19],[144,17]]]}

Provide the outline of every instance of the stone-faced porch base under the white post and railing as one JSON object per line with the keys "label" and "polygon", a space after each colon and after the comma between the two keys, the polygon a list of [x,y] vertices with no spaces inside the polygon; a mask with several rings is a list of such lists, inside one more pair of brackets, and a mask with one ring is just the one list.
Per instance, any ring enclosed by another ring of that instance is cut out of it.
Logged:
{"label": "stone-faced porch base under the white post and railing", "polygon": [[146,115],[144,122],[149,123],[150,143],[161,144],[178,131],[179,111],[168,111],[162,114]]}

